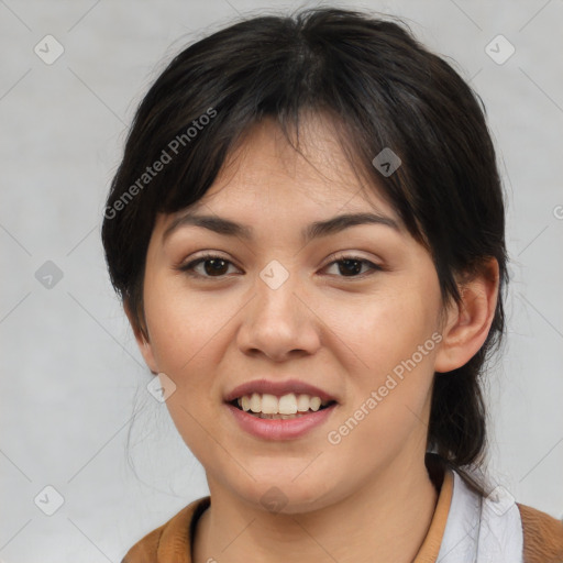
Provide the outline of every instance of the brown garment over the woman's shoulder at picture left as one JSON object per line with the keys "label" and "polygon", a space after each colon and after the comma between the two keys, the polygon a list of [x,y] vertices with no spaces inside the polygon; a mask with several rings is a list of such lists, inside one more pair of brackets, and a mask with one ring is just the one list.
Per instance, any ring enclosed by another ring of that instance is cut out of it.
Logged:
{"label": "brown garment over the woman's shoulder at picture left", "polygon": [[139,540],[121,563],[155,563],[156,561],[191,561],[195,523],[209,507],[210,497],[194,500],[152,532]]}

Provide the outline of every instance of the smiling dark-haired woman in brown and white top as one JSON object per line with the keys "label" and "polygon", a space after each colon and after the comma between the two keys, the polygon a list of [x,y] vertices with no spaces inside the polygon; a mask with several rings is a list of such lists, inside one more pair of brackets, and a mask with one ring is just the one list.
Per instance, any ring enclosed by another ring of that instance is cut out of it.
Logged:
{"label": "smiling dark-haired woman in brown and white top", "polygon": [[102,236],[210,490],[124,562],[563,561],[479,478],[503,191],[475,95],[402,26],[309,10],[181,52]]}

